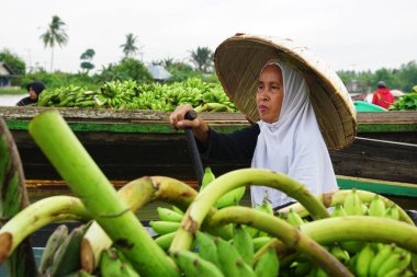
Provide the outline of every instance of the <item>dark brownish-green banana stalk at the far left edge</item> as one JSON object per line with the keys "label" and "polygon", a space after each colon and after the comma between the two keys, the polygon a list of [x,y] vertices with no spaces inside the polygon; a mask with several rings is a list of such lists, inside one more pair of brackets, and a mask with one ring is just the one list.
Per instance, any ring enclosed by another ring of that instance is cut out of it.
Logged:
{"label": "dark brownish-green banana stalk at the far left edge", "polygon": [[[0,218],[9,220],[30,204],[22,163],[3,119],[0,118]],[[4,222],[0,222],[0,227]],[[37,268],[30,239],[8,259],[9,276],[36,276]]]}

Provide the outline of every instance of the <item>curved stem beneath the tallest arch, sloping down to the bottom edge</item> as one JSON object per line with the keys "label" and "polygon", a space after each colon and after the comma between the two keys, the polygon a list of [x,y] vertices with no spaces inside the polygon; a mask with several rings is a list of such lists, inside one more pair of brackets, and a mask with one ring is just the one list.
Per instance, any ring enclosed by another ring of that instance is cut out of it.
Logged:
{"label": "curved stem beneath the tallest arch, sloping down to the bottom edge", "polygon": [[282,219],[247,207],[228,207],[215,212],[210,224],[232,222],[248,224],[280,239],[288,247],[305,254],[329,276],[353,276],[323,246]]}

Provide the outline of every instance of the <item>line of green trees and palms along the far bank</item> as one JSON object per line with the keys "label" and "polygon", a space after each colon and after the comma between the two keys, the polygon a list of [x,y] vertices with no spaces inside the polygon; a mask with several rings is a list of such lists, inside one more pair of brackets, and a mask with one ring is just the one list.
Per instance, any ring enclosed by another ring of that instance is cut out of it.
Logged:
{"label": "line of green trees and palms along the far bank", "polygon": [[[66,23],[59,16],[54,15],[45,32],[40,36],[44,46],[50,48],[49,73],[41,67],[31,68],[26,72],[26,65],[21,58],[8,49],[0,51],[0,61],[7,62],[14,73],[20,76],[20,78],[12,80],[13,84],[19,85],[36,78],[38,78],[38,80],[47,79],[46,82],[49,80],[49,84],[53,86],[55,86],[54,79],[56,79],[56,81],[60,79],[61,81],[64,80],[64,82],[76,83],[98,83],[116,79],[134,79],[137,81],[151,80],[144,64],[136,58],[138,54],[142,54],[142,47],[138,44],[138,37],[133,33],[126,34],[125,43],[120,45],[124,55],[122,60],[116,64],[103,66],[102,69],[93,76],[89,76],[89,72],[95,68],[93,64],[95,50],[92,48],[86,49],[86,51],[80,55],[80,71],[78,73],[70,74],[54,71],[54,49],[56,46],[65,46],[69,39],[65,27]],[[191,65],[168,57],[161,60],[154,60],[151,64],[166,67],[172,74],[171,81],[182,81],[189,77],[199,76],[205,78],[208,76],[210,79],[215,81],[216,78],[213,74],[213,51],[208,47],[198,47],[191,50],[189,61]],[[371,70],[340,70],[337,73],[345,84],[356,82],[356,92],[358,93],[373,91],[380,80],[384,80],[390,88],[398,89],[404,92],[412,91],[412,88],[417,84],[417,64],[415,60],[402,65],[399,69],[381,68],[374,72]]]}

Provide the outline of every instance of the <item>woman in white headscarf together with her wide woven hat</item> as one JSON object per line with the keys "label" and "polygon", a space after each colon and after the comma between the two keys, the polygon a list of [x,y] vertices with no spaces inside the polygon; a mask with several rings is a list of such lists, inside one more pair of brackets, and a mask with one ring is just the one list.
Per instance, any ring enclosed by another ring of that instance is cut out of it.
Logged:
{"label": "woman in white headscarf together with her wide woven hat", "polygon": [[[211,159],[249,159],[252,168],[286,174],[313,194],[337,187],[327,149],[352,143],[356,109],[340,78],[309,50],[291,39],[236,34],[214,55],[224,91],[250,127],[223,135],[202,119],[184,120],[192,107],[170,116],[178,128],[191,127],[199,148]],[[252,205],[263,197],[275,207],[293,199],[272,188],[252,186]]]}

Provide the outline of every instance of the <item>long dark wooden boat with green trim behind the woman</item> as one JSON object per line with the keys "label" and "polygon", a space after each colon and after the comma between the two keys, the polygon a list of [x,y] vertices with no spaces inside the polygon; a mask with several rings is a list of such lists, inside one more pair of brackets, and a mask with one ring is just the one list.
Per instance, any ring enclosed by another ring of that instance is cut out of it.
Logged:
{"label": "long dark wooden boat with green trim behind the woman", "polygon": [[[27,180],[60,177],[27,131],[29,122],[42,107],[1,107]],[[167,175],[195,182],[185,136],[168,123],[169,113],[60,108],[104,174],[113,181],[145,175]],[[240,113],[201,115],[215,130],[232,132],[249,125]],[[358,113],[358,138],[330,152],[342,188],[417,197],[417,112]],[[249,166],[249,161],[205,161],[216,175]]]}

